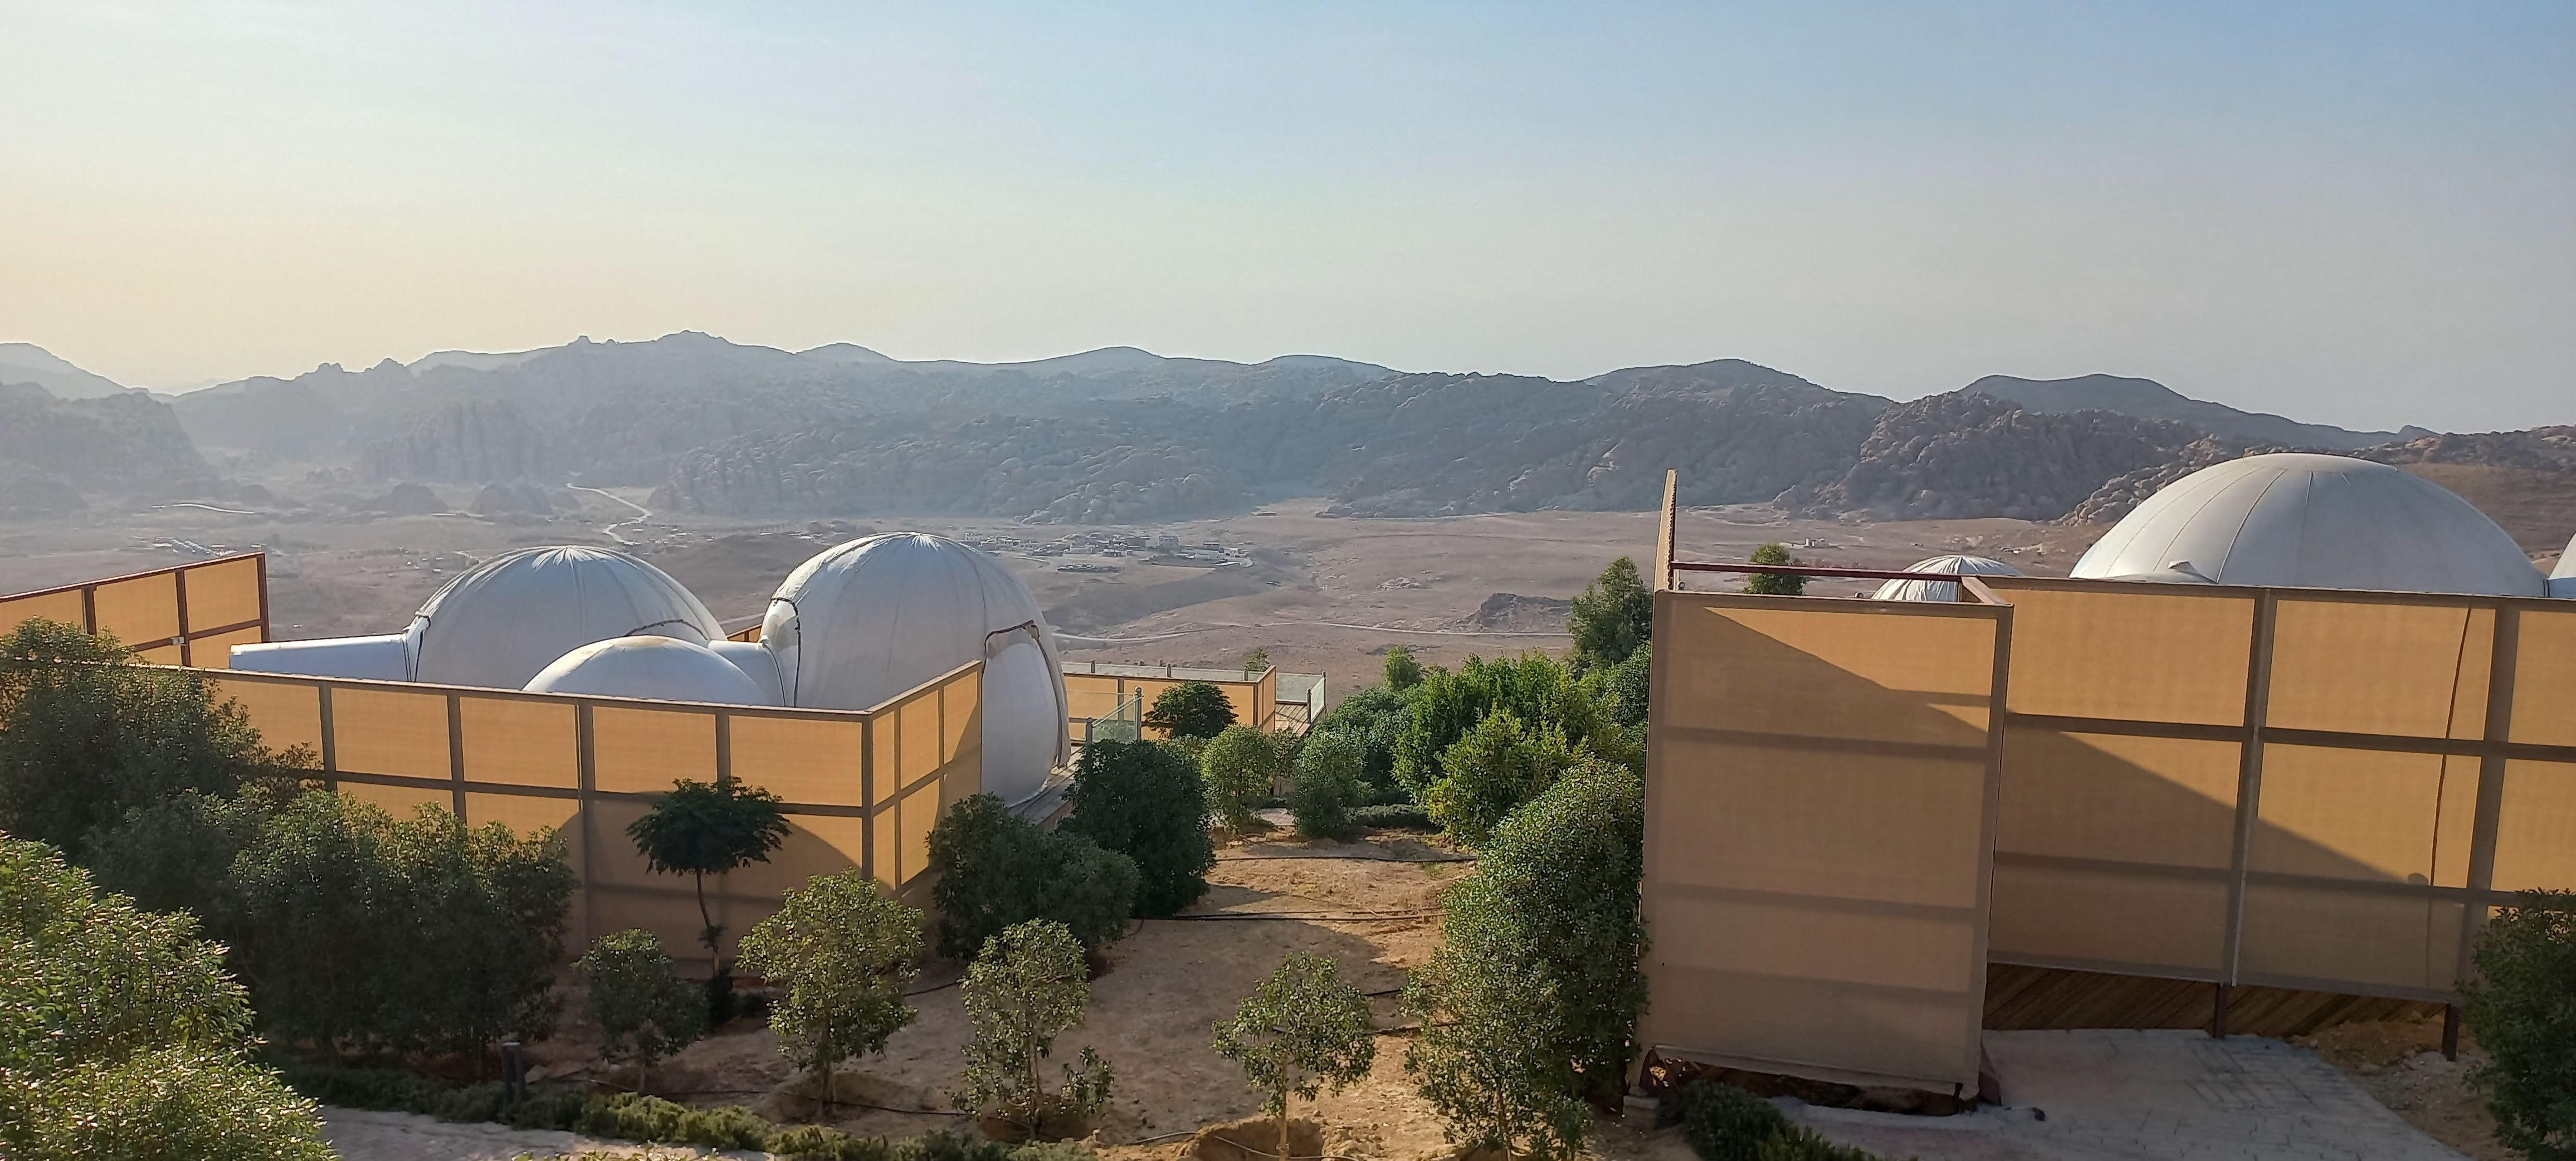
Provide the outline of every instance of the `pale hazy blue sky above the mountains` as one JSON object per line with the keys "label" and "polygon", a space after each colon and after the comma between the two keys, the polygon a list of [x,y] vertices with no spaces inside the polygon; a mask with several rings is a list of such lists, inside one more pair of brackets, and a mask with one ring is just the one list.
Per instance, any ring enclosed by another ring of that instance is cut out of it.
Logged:
{"label": "pale hazy blue sky above the mountains", "polygon": [[0,0],[0,340],[670,330],[2576,422],[2576,3]]}

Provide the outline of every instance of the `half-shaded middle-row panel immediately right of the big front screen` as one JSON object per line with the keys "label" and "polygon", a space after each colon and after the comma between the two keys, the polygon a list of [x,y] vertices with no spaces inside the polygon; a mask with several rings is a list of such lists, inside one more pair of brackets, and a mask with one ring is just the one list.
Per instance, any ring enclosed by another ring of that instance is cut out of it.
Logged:
{"label": "half-shaded middle-row panel immediately right of the big front screen", "polygon": [[2007,729],[1994,850],[2228,868],[2239,752],[2236,741]]}

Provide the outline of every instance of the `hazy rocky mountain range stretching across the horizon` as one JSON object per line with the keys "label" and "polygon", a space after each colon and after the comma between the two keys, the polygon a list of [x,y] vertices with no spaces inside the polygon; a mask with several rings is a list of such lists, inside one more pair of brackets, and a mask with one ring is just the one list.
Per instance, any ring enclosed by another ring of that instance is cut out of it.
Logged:
{"label": "hazy rocky mountain range stretching across the horizon", "polygon": [[[2419,445],[2439,440],[2421,427],[2352,432],[2241,412],[2120,376],[1986,376],[1899,404],[1744,360],[1548,381],[1136,348],[1028,363],[896,360],[850,342],[788,353],[698,332],[443,350],[363,371],[325,363],[175,399],[124,391],[41,348],[0,345],[8,381],[54,396],[21,391],[13,407],[28,417],[126,407],[108,430],[129,430],[137,456],[149,448],[178,466],[100,481],[59,456],[0,448],[0,487],[54,507],[64,494],[175,494],[216,471],[325,471],[381,484],[649,487],[654,510],[716,515],[1139,523],[1324,494],[1327,515],[1401,517],[1638,510],[1680,469],[1687,505],[2105,520],[2187,466],[2246,450],[2414,463],[2434,456]],[[90,432],[88,458],[116,458],[95,450],[106,412],[44,422]],[[2576,481],[2576,430],[2501,432],[2473,450],[2450,440],[2445,453],[2470,463],[2540,474],[2545,487]]]}

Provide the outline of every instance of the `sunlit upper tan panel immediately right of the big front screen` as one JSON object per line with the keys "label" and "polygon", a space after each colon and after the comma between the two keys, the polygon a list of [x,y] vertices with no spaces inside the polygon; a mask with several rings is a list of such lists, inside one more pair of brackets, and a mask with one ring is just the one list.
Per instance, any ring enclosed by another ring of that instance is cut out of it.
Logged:
{"label": "sunlit upper tan panel immediately right of the big front screen", "polygon": [[2251,592],[1986,582],[2012,602],[2009,698],[2017,713],[2244,723]]}

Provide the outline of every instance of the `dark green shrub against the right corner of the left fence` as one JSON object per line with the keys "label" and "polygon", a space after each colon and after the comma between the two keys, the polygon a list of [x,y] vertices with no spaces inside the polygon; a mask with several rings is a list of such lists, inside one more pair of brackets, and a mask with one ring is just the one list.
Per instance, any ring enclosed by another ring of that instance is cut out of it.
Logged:
{"label": "dark green shrub against the right corner of the left fence", "polygon": [[1126,934],[1136,911],[1136,862],[1082,834],[1043,831],[994,795],[969,795],[930,829],[938,952],[969,958],[984,940],[1028,919],[1066,924],[1084,947]]}

